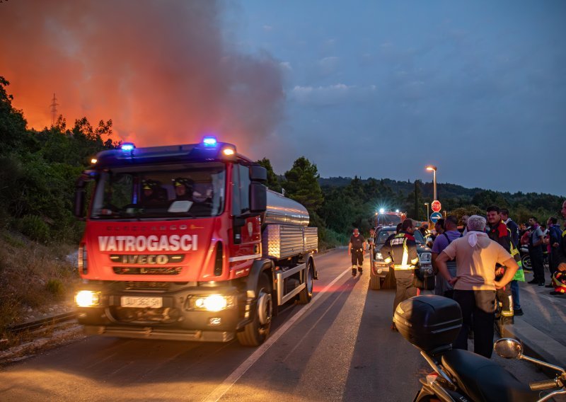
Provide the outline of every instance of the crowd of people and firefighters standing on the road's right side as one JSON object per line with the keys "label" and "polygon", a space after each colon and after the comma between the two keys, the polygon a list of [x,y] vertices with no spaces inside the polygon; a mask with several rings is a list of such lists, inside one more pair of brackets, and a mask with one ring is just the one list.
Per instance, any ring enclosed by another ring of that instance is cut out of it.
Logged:
{"label": "crowd of people and firefighters standing on the road's right side", "polygon": [[[561,213],[566,219],[566,201]],[[485,216],[465,215],[460,222],[461,229],[454,216],[435,223],[434,293],[454,299],[461,307],[463,325],[453,347],[467,349],[468,335],[473,330],[474,352],[491,357],[495,326],[502,333],[504,326],[514,323],[514,316],[524,314],[518,283],[525,281],[519,253],[521,246],[526,246],[531,256],[533,280],[528,283],[553,288],[550,292],[553,295],[565,293],[566,227],[562,229],[556,217],[549,217],[545,226],[539,224],[536,217],[529,219],[528,227],[518,225],[509,217],[509,210],[496,205],[487,207]],[[417,294],[413,280],[419,264],[415,230],[415,222],[405,219],[398,233],[390,236],[381,248],[383,260],[395,272],[397,291],[393,311],[404,299]],[[418,230],[424,231],[425,237],[429,235],[427,227],[421,226]],[[358,257],[354,265],[355,243],[351,240],[349,248],[352,275],[355,275],[354,268],[362,272]],[[545,254],[550,270],[548,284],[543,265]],[[394,322],[391,328],[396,329]]]}

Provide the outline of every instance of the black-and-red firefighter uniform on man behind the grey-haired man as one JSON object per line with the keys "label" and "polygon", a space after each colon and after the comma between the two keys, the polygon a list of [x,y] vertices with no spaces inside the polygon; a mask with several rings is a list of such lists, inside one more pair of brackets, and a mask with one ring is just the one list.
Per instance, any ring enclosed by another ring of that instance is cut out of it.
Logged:
{"label": "black-and-red firefighter uniform on man behind the grey-haired man", "polygon": [[[525,275],[523,272],[523,264],[521,263],[521,257],[519,255],[519,250],[512,241],[511,230],[507,225],[500,221],[495,226],[487,226],[487,235],[490,239],[499,243],[509,254],[512,255],[517,265],[519,265],[519,270],[517,270],[513,280],[525,280]],[[497,268],[505,268],[500,265],[496,265]],[[497,275],[495,280],[500,280],[503,274]],[[513,297],[511,294],[511,285],[504,287],[504,289],[497,289],[496,293],[497,302],[501,306],[501,318],[512,318],[513,317]]]}

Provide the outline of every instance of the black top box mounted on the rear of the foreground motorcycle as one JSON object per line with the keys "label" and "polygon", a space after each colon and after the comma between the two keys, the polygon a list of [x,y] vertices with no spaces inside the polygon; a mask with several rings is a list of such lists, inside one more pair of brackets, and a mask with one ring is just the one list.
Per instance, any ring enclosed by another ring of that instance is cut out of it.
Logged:
{"label": "black top box mounted on the rear of the foreground motorcycle", "polygon": [[395,309],[395,325],[403,338],[420,350],[450,348],[462,328],[462,311],[442,296],[415,296]]}

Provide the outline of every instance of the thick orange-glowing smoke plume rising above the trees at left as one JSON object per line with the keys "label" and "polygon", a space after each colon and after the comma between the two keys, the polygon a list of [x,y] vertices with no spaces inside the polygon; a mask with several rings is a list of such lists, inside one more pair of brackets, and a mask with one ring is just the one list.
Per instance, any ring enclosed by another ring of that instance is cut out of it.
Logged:
{"label": "thick orange-glowing smoke plume rising above the trees at left", "polygon": [[183,144],[203,134],[257,146],[282,106],[282,74],[267,54],[224,38],[223,3],[10,0],[0,4],[0,75],[29,127],[112,119],[116,139]]}

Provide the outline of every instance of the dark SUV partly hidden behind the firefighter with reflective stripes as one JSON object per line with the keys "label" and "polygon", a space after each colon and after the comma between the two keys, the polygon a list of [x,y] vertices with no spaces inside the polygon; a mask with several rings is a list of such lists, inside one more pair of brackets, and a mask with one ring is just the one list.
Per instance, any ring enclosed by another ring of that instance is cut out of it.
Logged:
{"label": "dark SUV partly hidden behind the firefighter with reflective stripes", "polygon": [[[383,261],[381,255],[381,248],[385,241],[391,234],[395,233],[395,226],[382,226],[376,230],[374,236],[374,251],[371,253],[371,270],[369,271],[369,287],[371,289],[381,289],[383,283],[386,282],[394,287],[395,284],[395,271],[389,269],[389,265]],[[420,260],[420,277],[425,278],[427,283],[434,282],[432,277],[432,254],[430,248],[427,246],[427,241],[424,240],[420,231],[415,230],[415,241],[417,241],[417,252],[419,253]]]}

